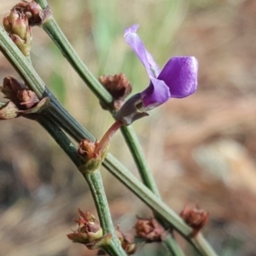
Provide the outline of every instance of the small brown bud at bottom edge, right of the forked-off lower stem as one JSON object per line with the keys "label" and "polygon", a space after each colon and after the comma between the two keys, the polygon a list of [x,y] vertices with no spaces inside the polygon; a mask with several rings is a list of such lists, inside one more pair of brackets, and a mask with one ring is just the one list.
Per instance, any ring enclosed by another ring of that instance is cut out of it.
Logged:
{"label": "small brown bud at bottom edge, right of the forked-off lower stem", "polygon": [[134,243],[134,236],[130,232],[121,232],[119,226],[115,229],[115,234],[119,238],[121,246],[125,253],[131,255],[136,252],[136,244]]}

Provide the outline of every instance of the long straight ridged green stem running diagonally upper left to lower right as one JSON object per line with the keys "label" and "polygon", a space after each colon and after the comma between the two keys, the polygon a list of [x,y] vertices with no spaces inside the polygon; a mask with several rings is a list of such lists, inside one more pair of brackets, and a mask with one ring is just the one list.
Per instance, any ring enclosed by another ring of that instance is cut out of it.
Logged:
{"label": "long straight ridged green stem running diagonally upper left to lower right", "polygon": [[[79,141],[81,138],[89,138],[92,140],[95,140],[94,137],[90,135],[88,131],[86,131],[79,123],[71,117],[69,113],[67,113],[67,110],[61,106],[59,102],[56,101],[55,97],[49,92],[49,90],[46,89],[44,82],[40,77],[38,76],[38,73],[33,69],[31,64],[26,60],[26,58],[20,53],[20,50],[16,47],[16,45],[10,40],[8,34],[3,31],[3,28],[0,26],[0,49],[3,52],[3,55],[5,55],[8,60],[11,62],[13,67],[17,70],[18,73],[20,73],[20,76],[26,81],[26,84],[28,84],[32,90],[36,92],[39,98],[43,96],[49,96],[53,108],[50,108],[49,111],[45,113],[46,116],[49,116],[51,119],[56,119],[58,122],[58,125],[61,125],[61,127],[67,131],[74,139]],[[61,108],[61,110],[60,110]],[[55,113],[53,114],[50,110],[53,109]],[[65,116],[64,116],[65,115]],[[73,123],[69,123],[73,120]],[[68,122],[68,123],[67,123]],[[73,131],[72,131],[73,130]],[[165,216],[161,215],[166,220],[170,221],[170,224],[177,227],[177,231],[184,234],[184,236],[189,235],[189,227],[186,224],[183,224],[183,221],[180,220],[180,218],[173,218],[173,212],[171,215],[170,212],[168,212],[168,207],[166,207],[163,202],[160,202],[158,198],[156,198],[152,192],[149,190],[143,190],[142,193],[138,192],[140,189],[146,189],[143,187],[142,183],[139,183],[135,177],[132,176],[131,172],[127,172],[124,175],[125,168],[122,166],[117,160],[111,156],[111,154],[108,154],[107,160],[104,161],[105,166],[107,166],[108,171],[114,173],[116,177],[119,177],[119,180],[122,183],[125,183],[127,186],[127,178],[128,176],[131,177],[130,185],[133,183],[133,187],[137,187],[137,195],[147,195],[145,197],[139,196],[143,201],[147,201],[147,204],[149,207],[152,208],[155,212],[159,212],[158,210],[162,208],[163,212],[165,212]],[[113,168],[113,169],[112,169]],[[125,171],[126,172],[126,171]],[[130,186],[129,185],[129,186]],[[133,191],[133,189],[131,189]],[[145,194],[146,193],[146,194]],[[158,201],[158,203],[157,203]],[[160,207],[160,208],[159,208]],[[166,208],[168,209],[166,212]],[[172,211],[172,210],[171,210]],[[173,222],[173,223],[172,223]],[[181,222],[181,223],[180,223]],[[185,229],[187,228],[186,233],[183,232],[183,225]],[[181,230],[179,230],[181,228]],[[188,237],[185,237],[188,238]],[[201,242],[201,240],[198,240],[198,242]],[[202,245],[203,247],[206,246],[206,244]],[[201,250],[201,249],[200,249]],[[213,256],[216,255],[215,253],[211,254],[204,254],[202,255],[208,255]]]}

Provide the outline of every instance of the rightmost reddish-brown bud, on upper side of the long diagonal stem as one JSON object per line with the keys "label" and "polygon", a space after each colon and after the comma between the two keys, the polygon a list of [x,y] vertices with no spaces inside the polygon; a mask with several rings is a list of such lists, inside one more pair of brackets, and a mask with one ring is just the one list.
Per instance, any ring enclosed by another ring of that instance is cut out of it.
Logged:
{"label": "rightmost reddish-brown bud, on upper side of the long diagonal stem", "polygon": [[183,211],[180,212],[180,216],[193,229],[191,236],[195,237],[202,227],[207,224],[209,212],[206,212],[199,207],[191,208],[185,206]]}

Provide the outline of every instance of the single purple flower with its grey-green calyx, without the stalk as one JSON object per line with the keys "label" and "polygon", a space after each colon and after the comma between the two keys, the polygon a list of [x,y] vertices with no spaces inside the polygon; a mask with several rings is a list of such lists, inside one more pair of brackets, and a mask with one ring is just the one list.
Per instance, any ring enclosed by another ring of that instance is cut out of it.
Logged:
{"label": "single purple flower with its grey-green calyx, without the stalk", "polygon": [[148,115],[148,110],[160,106],[171,97],[189,96],[195,92],[197,86],[198,63],[195,57],[172,57],[160,71],[137,35],[137,28],[138,25],[135,24],[125,29],[125,42],[143,62],[150,83],[148,88],[132,96],[116,113],[116,118],[122,120],[125,125],[131,125],[134,120]]}

